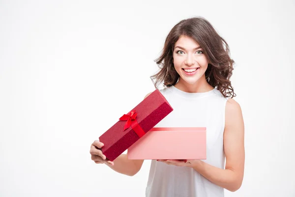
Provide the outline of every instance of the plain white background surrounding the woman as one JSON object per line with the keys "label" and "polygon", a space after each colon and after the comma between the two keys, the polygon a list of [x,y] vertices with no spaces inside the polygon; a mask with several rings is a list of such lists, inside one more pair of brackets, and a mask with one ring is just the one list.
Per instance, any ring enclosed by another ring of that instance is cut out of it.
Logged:
{"label": "plain white background surrounding the woman", "polygon": [[205,17],[236,62],[245,122],[242,187],[295,196],[295,1],[0,1],[0,196],[144,197],[150,161],[125,176],[90,144],[154,90],[180,20]]}

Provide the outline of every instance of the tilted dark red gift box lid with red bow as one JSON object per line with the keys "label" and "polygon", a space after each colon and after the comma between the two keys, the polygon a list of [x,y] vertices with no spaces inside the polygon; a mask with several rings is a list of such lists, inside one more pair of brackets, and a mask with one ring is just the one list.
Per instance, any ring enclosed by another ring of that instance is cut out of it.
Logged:
{"label": "tilted dark red gift box lid with red bow", "polygon": [[114,161],[172,111],[171,105],[156,89],[99,137],[104,143],[102,153]]}

